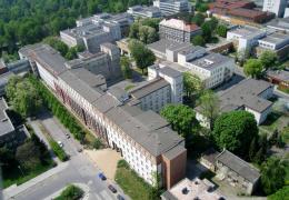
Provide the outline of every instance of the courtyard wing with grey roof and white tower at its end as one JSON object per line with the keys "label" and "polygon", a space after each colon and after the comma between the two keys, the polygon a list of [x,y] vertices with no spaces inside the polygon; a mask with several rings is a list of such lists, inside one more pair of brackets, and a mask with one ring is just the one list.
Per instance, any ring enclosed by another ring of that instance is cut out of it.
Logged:
{"label": "courtyard wing with grey roof and white tower at its end", "polygon": [[[167,66],[148,68],[148,81],[129,91],[142,110],[159,112],[168,103],[182,103],[182,73]],[[138,102],[137,102],[138,101]]]}

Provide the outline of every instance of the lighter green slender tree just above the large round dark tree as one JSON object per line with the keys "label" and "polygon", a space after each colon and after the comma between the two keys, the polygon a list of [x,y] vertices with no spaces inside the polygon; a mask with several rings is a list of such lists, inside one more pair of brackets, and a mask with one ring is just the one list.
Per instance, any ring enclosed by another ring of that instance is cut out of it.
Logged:
{"label": "lighter green slender tree just above the large round dark tree", "polygon": [[199,108],[201,114],[208,119],[209,127],[212,130],[215,120],[220,112],[219,98],[211,90],[207,90],[199,99]]}

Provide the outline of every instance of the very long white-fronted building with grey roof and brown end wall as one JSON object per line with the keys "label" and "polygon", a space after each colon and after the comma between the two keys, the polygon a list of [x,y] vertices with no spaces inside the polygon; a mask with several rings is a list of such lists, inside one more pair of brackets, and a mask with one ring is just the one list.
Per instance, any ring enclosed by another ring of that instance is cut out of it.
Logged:
{"label": "very long white-fronted building with grey roof and brown end wall", "polygon": [[[108,46],[109,48],[110,46]],[[28,46],[19,51],[33,71],[86,126],[121,153],[147,182],[171,188],[185,177],[185,139],[152,110],[141,110],[118,89],[108,89],[106,78],[67,61],[46,44]],[[150,83],[151,84],[151,83]]]}

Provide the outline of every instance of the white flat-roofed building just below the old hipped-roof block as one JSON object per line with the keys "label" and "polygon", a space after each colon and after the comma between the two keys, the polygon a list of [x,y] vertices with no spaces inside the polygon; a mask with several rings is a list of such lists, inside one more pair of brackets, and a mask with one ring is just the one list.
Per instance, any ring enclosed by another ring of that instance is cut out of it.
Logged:
{"label": "white flat-roofed building just below the old hipped-roof block", "polygon": [[207,89],[228,81],[235,72],[233,59],[207,51],[202,47],[160,40],[149,44],[149,48],[155,52],[156,57],[167,60],[161,61],[161,64],[199,77]]}

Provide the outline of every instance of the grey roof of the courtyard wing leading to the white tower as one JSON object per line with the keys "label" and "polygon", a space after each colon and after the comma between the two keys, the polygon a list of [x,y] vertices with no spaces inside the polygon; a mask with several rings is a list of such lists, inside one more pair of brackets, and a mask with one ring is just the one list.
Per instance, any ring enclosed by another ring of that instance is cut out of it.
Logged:
{"label": "grey roof of the courtyard wing leading to the white tower", "polygon": [[144,86],[140,86],[137,88],[133,88],[130,91],[130,94],[136,99],[141,99],[157,90],[160,90],[161,88],[170,86],[169,82],[167,82],[162,78],[157,78],[155,80],[148,81]]}

